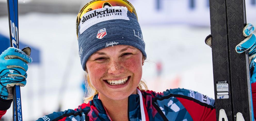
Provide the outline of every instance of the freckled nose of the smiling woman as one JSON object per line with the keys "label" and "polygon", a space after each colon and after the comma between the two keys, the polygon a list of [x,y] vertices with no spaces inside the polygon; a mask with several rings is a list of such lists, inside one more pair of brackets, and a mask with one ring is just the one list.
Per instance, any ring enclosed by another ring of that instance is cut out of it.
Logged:
{"label": "freckled nose of the smiling woman", "polygon": [[108,73],[118,75],[124,72],[124,67],[118,61],[110,61]]}

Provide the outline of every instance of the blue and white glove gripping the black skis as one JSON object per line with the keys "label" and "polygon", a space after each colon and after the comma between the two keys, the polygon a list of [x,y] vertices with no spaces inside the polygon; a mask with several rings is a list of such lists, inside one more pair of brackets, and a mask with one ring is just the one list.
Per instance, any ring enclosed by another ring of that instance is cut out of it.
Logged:
{"label": "blue and white glove gripping the black skis", "polygon": [[[251,83],[256,82],[256,69],[254,69],[254,59],[256,56],[256,37],[252,34],[254,31],[254,26],[251,23],[248,23],[243,29],[243,35],[246,37],[244,41],[239,43],[235,50],[237,53],[243,53],[246,50],[249,50],[249,63],[251,71]],[[205,38],[205,43],[212,47],[212,35],[208,35]]]}

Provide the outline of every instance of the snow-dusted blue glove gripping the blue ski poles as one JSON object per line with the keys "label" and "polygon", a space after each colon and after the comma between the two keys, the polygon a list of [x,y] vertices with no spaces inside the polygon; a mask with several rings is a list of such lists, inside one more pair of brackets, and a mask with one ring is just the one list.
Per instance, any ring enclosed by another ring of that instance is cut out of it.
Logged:
{"label": "snow-dusted blue glove gripping the blue ski poles", "polygon": [[0,97],[12,99],[14,85],[25,86],[31,49],[9,47],[0,55]]}

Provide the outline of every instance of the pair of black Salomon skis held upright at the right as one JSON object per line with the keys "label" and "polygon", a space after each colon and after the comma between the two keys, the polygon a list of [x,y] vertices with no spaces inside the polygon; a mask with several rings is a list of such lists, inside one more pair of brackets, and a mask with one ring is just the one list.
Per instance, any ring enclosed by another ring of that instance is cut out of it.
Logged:
{"label": "pair of black Salomon skis held upright at the right", "polygon": [[210,20],[217,120],[252,121],[248,52],[235,51],[245,38],[245,0],[210,0]]}

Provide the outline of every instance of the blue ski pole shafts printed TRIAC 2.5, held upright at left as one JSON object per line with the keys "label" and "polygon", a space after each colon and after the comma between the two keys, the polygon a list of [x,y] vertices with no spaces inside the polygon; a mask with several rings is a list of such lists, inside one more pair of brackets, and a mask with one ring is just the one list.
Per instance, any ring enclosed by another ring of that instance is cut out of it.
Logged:
{"label": "blue ski pole shafts printed TRIAC 2.5, held upright at left", "polygon": [[[7,0],[11,47],[19,48],[18,0]],[[13,120],[22,121],[20,86],[13,87]]]}

